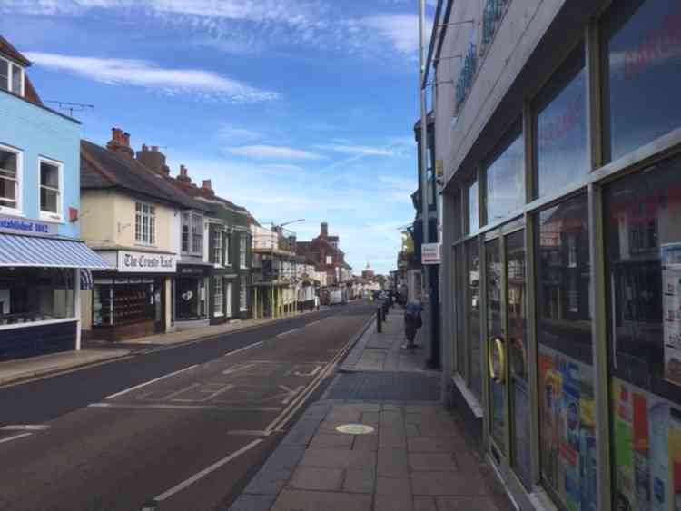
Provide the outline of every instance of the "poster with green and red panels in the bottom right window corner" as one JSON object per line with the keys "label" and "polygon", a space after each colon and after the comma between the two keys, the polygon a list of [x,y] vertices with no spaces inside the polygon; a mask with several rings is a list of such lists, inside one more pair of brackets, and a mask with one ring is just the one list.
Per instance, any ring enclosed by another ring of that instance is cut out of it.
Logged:
{"label": "poster with green and red panels in the bottom right window corner", "polygon": [[681,511],[681,410],[613,380],[615,509]]}

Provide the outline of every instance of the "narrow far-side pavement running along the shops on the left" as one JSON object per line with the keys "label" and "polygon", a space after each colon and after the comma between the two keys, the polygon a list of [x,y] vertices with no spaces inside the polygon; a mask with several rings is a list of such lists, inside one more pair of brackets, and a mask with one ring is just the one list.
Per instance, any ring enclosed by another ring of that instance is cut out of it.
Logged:
{"label": "narrow far-side pavement running along the shops on the left", "polygon": [[[321,307],[320,311],[322,310],[328,310],[328,308]],[[316,312],[317,311],[306,311],[274,319],[237,320],[223,325],[186,329],[139,339],[125,340],[124,342],[118,343],[96,339],[88,340],[84,342],[84,349],[81,349],[80,351],[63,351],[38,357],[0,362],[0,386],[27,378],[42,377],[66,370],[83,369],[87,366],[126,357],[141,349],[173,347],[204,339],[219,338],[226,334],[258,328],[278,321],[288,321],[292,318],[298,318]]]}

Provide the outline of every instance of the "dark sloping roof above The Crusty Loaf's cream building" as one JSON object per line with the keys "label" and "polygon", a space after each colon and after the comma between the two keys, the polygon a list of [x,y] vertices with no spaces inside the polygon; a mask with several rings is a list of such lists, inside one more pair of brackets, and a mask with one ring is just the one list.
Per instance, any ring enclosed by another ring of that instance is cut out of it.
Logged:
{"label": "dark sloping roof above The Crusty Loaf's cream building", "polygon": [[206,204],[194,201],[142,163],[86,140],[81,141],[81,188],[118,188],[183,208],[209,211]]}

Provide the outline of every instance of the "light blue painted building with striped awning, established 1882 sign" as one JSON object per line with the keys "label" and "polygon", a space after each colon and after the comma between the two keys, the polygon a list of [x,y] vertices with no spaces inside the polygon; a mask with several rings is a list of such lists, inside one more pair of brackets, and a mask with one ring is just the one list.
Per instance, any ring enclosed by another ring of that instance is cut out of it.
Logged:
{"label": "light blue painted building with striped awning, established 1882 sign", "polygon": [[80,349],[80,123],[46,108],[0,36],[0,360]]}

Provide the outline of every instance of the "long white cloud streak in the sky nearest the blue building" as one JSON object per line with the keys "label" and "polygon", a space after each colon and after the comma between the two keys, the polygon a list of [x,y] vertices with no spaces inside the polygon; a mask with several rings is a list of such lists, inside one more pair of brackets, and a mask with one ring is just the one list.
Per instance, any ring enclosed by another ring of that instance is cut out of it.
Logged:
{"label": "long white cloud streak in the sky nearest the blue building", "polygon": [[79,74],[110,85],[135,85],[163,93],[202,93],[205,98],[222,98],[232,103],[271,101],[278,93],[256,89],[222,74],[201,69],[163,68],[153,62],[137,59],[104,59],[62,54],[26,52],[35,64]]}

